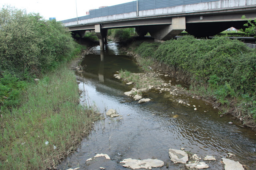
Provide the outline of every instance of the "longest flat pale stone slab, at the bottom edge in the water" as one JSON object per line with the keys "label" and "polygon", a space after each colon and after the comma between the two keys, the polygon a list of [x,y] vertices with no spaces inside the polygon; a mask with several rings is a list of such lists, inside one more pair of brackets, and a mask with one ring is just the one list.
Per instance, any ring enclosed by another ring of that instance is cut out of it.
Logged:
{"label": "longest flat pale stone slab, at the bottom edge in the water", "polygon": [[144,159],[144,160],[137,160],[137,159],[124,159],[120,163],[124,163],[124,167],[126,168],[132,168],[132,169],[140,169],[140,168],[145,168],[145,169],[152,169],[157,168],[157,167],[162,167],[164,166],[164,161],[158,160],[158,159]]}

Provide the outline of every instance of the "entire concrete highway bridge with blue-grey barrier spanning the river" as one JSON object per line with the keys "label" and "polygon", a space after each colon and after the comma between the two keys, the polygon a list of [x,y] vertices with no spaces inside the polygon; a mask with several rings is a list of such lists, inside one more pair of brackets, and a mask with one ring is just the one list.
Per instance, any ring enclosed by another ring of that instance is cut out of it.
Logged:
{"label": "entire concrete highway bridge with blue-grey barrier spanning the river", "polygon": [[64,20],[70,31],[83,36],[95,30],[104,49],[108,29],[135,27],[155,41],[171,39],[186,30],[196,37],[216,35],[230,27],[240,29],[246,18],[256,18],[256,0],[138,0],[90,11]]}

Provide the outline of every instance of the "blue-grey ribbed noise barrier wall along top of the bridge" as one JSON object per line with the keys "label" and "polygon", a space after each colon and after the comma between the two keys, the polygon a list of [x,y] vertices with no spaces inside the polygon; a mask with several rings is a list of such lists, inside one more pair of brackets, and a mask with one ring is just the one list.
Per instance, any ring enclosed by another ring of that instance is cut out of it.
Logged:
{"label": "blue-grey ribbed noise barrier wall along top of the bridge", "polygon": [[[138,6],[139,11],[152,10],[157,8],[166,8],[170,6],[179,6],[187,4],[196,4],[200,2],[211,2],[217,0],[139,0]],[[78,17],[78,20],[86,20],[90,18],[97,18],[103,16],[112,16],[116,14],[124,14],[137,11],[137,2],[128,2],[124,4],[109,6],[105,8],[100,8],[97,10],[91,10],[90,15]],[[74,22],[76,18],[63,20],[62,23]]]}

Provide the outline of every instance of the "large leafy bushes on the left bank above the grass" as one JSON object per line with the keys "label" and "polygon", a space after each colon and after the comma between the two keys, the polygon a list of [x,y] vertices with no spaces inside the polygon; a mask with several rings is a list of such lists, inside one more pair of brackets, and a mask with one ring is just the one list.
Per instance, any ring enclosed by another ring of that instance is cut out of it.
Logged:
{"label": "large leafy bushes on the left bank above the grass", "polygon": [[72,59],[80,48],[60,22],[4,6],[0,9],[0,106],[19,104],[28,80]]}

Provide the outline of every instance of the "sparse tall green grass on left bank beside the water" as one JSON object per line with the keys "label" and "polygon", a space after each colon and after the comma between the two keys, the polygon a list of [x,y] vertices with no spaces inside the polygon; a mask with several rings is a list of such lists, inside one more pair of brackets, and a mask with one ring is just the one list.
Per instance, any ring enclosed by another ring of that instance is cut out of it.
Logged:
{"label": "sparse tall green grass on left bank beside the water", "polygon": [[78,94],[66,66],[29,84],[22,105],[1,113],[0,169],[46,169],[71,152],[98,116]]}

